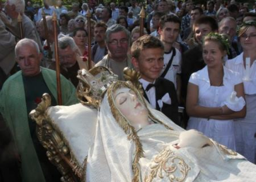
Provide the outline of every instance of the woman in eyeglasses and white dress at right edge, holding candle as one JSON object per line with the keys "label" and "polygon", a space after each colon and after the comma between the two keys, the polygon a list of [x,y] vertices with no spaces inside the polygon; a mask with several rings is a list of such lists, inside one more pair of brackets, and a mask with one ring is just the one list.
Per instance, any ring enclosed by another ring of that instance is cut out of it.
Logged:
{"label": "woman in eyeglasses and white dress at right edge, holding candle", "polygon": [[[244,22],[238,36],[243,52],[225,64],[227,68],[241,73],[240,79],[244,84],[247,111],[245,118],[235,122],[236,146],[237,152],[256,163],[256,21]],[[246,58],[250,59],[247,66],[250,71],[248,68],[245,70]]]}

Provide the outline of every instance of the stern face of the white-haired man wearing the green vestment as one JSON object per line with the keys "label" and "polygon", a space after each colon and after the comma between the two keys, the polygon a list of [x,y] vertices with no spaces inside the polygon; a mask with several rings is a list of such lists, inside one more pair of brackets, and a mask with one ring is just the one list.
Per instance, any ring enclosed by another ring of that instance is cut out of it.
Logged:
{"label": "stern face of the white-haired man wearing the green vestment", "polygon": [[24,76],[33,77],[38,75],[41,59],[42,54],[38,53],[35,46],[31,44],[21,46],[17,50],[16,61]]}

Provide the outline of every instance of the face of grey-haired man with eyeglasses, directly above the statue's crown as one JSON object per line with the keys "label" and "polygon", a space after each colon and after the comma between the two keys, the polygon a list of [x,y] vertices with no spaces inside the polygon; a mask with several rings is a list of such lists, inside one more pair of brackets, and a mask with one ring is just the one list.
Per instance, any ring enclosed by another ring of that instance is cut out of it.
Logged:
{"label": "face of grey-haired man with eyeglasses, directly above the statue's crown", "polygon": [[128,38],[129,37],[127,37],[126,33],[123,31],[110,34],[107,47],[113,59],[120,59],[127,56]]}

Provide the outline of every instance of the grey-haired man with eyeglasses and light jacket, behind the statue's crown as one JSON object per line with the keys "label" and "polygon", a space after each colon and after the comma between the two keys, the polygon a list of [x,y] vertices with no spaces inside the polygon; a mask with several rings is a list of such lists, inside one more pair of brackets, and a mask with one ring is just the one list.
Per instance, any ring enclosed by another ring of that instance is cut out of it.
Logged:
{"label": "grey-haired man with eyeglasses and light jacket, behind the statue's crown", "polygon": [[132,68],[131,57],[127,56],[130,44],[130,32],[120,24],[114,24],[106,31],[105,44],[109,53],[95,66],[110,68],[118,75],[119,80],[124,81],[124,68]]}

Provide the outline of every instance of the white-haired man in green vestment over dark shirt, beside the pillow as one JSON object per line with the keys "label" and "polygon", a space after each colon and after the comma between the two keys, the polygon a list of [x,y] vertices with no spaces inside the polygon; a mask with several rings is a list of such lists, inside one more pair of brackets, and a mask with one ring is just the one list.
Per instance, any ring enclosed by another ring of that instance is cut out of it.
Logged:
{"label": "white-haired man in green vestment over dark shirt, beside the pillow", "polygon": [[[35,122],[28,118],[28,113],[37,107],[44,93],[49,93],[52,105],[56,105],[56,72],[40,67],[42,54],[34,40],[20,40],[15,47],[15,56],[21,70],[4,83],[0,92],[0,112],[19,151],[22,181],[60,181],[60,174],[48,161],[45,149],[37,139]],[[63,105],[77,103],[75,87],[63,76],[60,78]]]}

